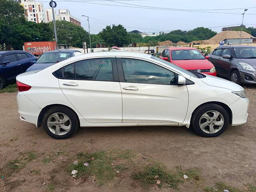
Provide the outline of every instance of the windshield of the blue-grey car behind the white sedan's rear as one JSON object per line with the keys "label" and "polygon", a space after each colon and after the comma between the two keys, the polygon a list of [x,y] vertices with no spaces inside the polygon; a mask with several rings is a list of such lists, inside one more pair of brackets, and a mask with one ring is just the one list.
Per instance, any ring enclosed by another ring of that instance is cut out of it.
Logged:
{"label": "windshield of the blue-grey car behind the white sedan's rear", "polygon": [[71,53],[63,53],[63,52],[56,52],[56,53],[44,53],[42,56],[37,60],[36,63],[57,63],[67,58],[70,58]]}

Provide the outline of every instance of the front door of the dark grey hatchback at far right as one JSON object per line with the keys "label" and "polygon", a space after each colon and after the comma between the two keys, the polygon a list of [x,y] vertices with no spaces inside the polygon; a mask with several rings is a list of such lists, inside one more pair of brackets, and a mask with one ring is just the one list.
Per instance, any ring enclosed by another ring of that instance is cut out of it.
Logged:
{"label": "front door of the dark grey hatchback at far right", "polygon": [[[232,54],[231,54],[231,48],[223,48],[221,52],[221,58],[218,62],[218,70],[220,75],[229,78],[230,74],[230,67],[232,65]],[[230,55],[231,59],[223,58],[223,55]]]}

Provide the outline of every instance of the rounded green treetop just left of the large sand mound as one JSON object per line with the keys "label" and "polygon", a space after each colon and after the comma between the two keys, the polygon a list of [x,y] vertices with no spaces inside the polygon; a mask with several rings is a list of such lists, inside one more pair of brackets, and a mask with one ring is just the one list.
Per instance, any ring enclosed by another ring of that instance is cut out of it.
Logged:
{"label": "rounded green treetop just left of the large sand mound", "polygon": [[187,34],[196,38],[197,40],[206,40],[212,38],[217,33],[208,28],[198,27],[188,31]]}

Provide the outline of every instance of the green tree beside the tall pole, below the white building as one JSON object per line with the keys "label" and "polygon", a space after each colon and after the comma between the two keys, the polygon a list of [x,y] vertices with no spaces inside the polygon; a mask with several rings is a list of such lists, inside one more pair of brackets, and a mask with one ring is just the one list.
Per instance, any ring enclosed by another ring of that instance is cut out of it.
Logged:
{"label": "green tree beside the tall pole, below the white building", "polygon": [[[50,22],[50,28],[54,33],[53,22]],[[73,47],[82,48],[82,42],[90,44],[89,33],[84,28],[74,25],[71,22],[61,20],[56,21],[58,44],[70,44]]]}

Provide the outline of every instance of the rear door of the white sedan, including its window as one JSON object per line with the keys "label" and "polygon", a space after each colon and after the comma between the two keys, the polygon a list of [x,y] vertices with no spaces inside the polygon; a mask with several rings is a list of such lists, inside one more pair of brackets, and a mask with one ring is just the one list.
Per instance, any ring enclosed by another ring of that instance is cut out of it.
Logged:
{"label": "rear door of the white sedan, including its window", "polygon": [[88,122],[122,122],[122,95],[115,57],[81,60],[62,70],[60,88]]}

